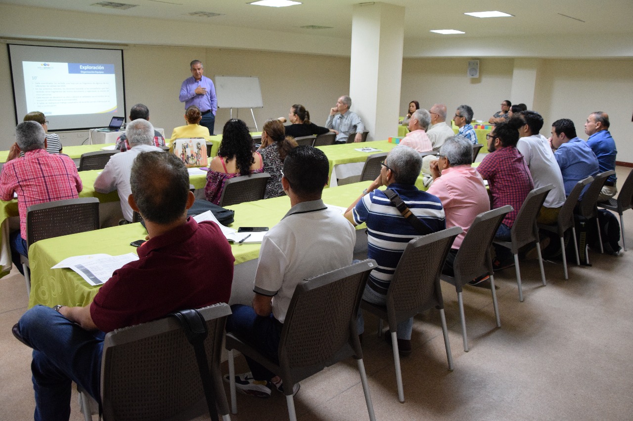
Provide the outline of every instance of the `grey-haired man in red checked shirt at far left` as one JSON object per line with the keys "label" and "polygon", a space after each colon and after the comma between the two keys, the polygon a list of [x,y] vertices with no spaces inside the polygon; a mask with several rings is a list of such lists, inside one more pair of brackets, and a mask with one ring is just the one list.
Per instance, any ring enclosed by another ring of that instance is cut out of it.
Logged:
{"label": "grey-haired man in red checked shirt at far left", "polygon": [[[23,274],[20,255],[28,256],[27,208],[54,200],[79,197],[83,186],[70,157],[46,152],[46,133],[37,121],[25,121],[15,128],[16,142],[9,150],[0,173],[0,199],[18,195],[20,231],[11,233],[11,259]],[[20,152],[24,156],[20,157]]]}

